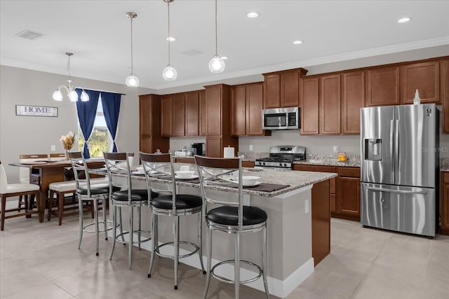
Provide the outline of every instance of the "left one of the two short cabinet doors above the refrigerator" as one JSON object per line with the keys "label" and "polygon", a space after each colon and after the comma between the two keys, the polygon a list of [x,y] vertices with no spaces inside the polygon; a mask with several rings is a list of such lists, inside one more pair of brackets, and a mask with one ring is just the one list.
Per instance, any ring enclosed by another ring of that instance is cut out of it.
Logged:
{"label": "left one of the two short cabinet doors above the refrigerator", "polygon": [[399,97],[400,67],[382,67],[366,71],[365,106],[401,104]]}

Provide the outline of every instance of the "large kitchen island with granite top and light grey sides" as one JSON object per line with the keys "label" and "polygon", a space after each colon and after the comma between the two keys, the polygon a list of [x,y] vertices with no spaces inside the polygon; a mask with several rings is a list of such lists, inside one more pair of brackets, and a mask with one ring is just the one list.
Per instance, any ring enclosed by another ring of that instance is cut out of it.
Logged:
{"label": "large kitchen island with granite top and light grey sides", "polygon": [[[179,167],[177,163],[177,167]],[[196,167],[191,166],[191,169]],[[262,191],[244,188],[245,204],[260,207],[267,212],[267,276],[269,293],[280,298],[293,291],[298,285],[314,272],[314,257],[312,255],[312,239],[314,247],[319,248],[321,260],[329,252],[330,239],[330,205],[329,179],[337,176],[324,172],[296,172],[277,169],[244,169],[244,175],[260,177],[262,183],[282,184],[279,190]],[[123,177],[114,177],[121,180]],[[133,188],[145,188],[145,176],[133,176]],[[161,188],[167,186],[168,181],[152,178]],[[312,187],[315,186],[316,188]],[[192,181],[177,181],[178,193],[201,195],[199,183]],[[222,185],[208,185],[213,192],[223,197],[237,193],[237,189]],[[126,221],[126,209],[123,210],[123,223]],[[142,228],[151,228],[149,209],[142,210]],[[312,225],[312,223],[314,223]],[[205,231],[203,225],[203,231]],[[326,230],[327,227],[327,230]],[[181,218],[180,236],[182,240],[196,242],[196,217]],[[318,229],[318,231],[316,231]],[[314,231],[314,232],[312,232]],[[205,233],[203,235],[206,235]],[[318,238],[318,242],[316,242]],[[173,220],[159,217],[159,242],[173,241]],[[324,241],[324,243],[323,243]],[[203,238],[203,244],[206,240]],[[232,236],[215,233],[213,235],[213,264],[221,260],[232,258],[234,245]],[[323,248],[322,248],[323,247]],[[142,248],[149,250],[150,244],[142,244]],[[260,238],[257,234],[249,234],[241,239],[241,258],[260,263],[262,254]],[[170,250],[168,248],[167,250]],[[314,249],[315,251],[315,249]],[[168,252],[168,251],[167,251]],[[183,249],[180,250],[180,254]],[[206,257],[203,257],[206,260]],[[181,263],[201,268],[198,256],[183,258]],[[233,277],[233,267],[223,267],[225,277]],[[253,277],[250,270],[242,269],[241,278]],[[247,286],[263,290],[262,280],[254,281]]]}

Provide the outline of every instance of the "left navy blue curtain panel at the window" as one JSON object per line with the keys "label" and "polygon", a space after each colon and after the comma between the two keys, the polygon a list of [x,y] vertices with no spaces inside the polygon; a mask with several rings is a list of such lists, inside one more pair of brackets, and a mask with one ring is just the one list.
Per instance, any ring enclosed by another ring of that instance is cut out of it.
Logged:
{"label": "left navy blue curtain panel at the window", "polygon": [[97,115],[98,97],[100,97],[100,92],[95,90],[84,90],[89,95],[88,102],[81,102],[81,92],[82,90],[76,88],[76,93],[78,94],[78,102],[76,102],[76,111],[78,113],[79,127],[81,127],[81,132],[83,133],[84,143],[83,156],[88,159],[91,158],[89,153],[89,148],[87,146],[89,138],[91,138],[93,124],[95,123],[95,116]]}

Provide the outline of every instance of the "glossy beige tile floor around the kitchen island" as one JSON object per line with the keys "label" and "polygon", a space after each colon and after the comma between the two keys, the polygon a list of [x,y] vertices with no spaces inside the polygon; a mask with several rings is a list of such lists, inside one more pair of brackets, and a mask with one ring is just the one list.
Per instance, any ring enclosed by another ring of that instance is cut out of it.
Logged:
{"label": "glossy beige tile floor around the kitchen island", "polygon": [[[363,228],[332,219],[331,253],[288,299],[448,299],[449,236],[434,239]],[[128,270],[126,246],[93,234],[77,250],[78,218],[39,223],[36,216],[6,220],[0,233],[0,298],[201,298],[205,277],[180,264],[179,290],[173,290],[173,262],[161,258],[147,278],[149,252],[135,250]],[[233,288],[212,279],[208,298],[233,298]],[[242,286],[241,298],[264,298]],[[273,297],[272,297],[273,298]]]}

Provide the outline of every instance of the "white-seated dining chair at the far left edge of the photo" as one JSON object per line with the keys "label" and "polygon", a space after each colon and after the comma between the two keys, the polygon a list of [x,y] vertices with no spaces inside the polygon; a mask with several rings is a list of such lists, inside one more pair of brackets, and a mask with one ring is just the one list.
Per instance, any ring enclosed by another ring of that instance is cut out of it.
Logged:
{"label": "white-seated dining chair at the far left edge of the photo", "polygon": [[34,185],[33,183],[8,183],[4,165],[1,164],[0,161],[0,199],[1,199],[0,230],[4,230],[6,218],[14,218],[19,216],[26,216],[27,218],[29,218],[31,217],[32,214],[39,213],[39,211],[33,211],[32,207],[29,207],[27,204],[25,204],[25,212],[6,216],[6,212],[20,211],[20,208],[6,209],[6,199],[8,197],[17,197],[24,195],[29,196],[30,202],[32,202],[34,197],[36,197],[36,199],[39,200],[39,185]]}

